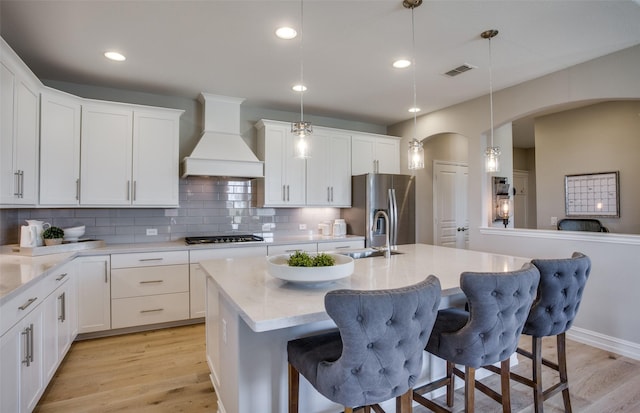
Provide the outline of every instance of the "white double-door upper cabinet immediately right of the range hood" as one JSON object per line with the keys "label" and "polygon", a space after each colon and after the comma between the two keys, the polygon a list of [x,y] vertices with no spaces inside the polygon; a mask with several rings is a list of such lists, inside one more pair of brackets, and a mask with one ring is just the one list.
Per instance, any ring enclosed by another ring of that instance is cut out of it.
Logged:
{"label": "white double-door upper cabinet immediately right of the range hood", "polygon": [[295,156],[290,124],[261,120],[256,128],[258,157],[264,161],[264,186],[258,188],[258,202],[261,206],[304,206],[305,160]]}

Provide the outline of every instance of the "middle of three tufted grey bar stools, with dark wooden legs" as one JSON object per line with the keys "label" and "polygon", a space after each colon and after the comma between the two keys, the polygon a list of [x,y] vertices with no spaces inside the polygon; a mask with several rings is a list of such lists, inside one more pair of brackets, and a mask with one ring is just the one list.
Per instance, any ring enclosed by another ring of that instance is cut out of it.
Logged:
{"label": "middle of three tufted grey bar stools, with dark wooden legs", "polygon": [[[511,411],[509,386],[510,357],[538,288],[540,273],[527,263],[516,271],[502,273],[463,272],[460,287],[469,311],[447,308],[438,311],[426,350],[447,362],[446,376],[414,390],[413,398],[435,412],[450,410],[422,396],[446,386],[447,406],[453,406],[455,376],[465,381],[465,411],[474,411],[475,389]],[[476,382],[476,369],[500,363],[501,393]],[[464,366],[464,372],[456,367]]]}

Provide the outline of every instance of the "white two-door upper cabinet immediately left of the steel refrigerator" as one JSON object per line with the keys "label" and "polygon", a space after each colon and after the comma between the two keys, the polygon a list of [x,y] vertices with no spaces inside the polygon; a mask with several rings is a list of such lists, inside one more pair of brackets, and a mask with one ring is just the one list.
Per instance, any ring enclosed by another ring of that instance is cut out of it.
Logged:
{"label": "white two-door upper cabinet immediately left of the steel refrigerator", "polygon": [[307,205],[351,206],[351,136],[314,128],[307,159]]}

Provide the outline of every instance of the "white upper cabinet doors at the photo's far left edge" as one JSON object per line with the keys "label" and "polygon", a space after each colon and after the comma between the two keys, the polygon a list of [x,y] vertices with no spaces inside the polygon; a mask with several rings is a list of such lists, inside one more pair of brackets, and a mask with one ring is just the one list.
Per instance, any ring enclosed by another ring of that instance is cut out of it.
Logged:
{"label": "white upper cabinet doors at the photo's far left edge", "polygon": [[35,205],[38,201],[41,87],[0,39],[0,204]]}

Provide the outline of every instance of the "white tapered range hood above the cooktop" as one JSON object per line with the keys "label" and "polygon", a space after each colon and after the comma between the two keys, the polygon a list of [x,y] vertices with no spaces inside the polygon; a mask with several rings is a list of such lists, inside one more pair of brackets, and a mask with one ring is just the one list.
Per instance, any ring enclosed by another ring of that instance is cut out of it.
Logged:
{"label": "white tapered range hood above the cooktop", "polygon": [[204,107],[204,132],[191,155],[182,160],[182,177],[263,177],[264,162],[240,135],[244,99],[201,93],[199,100]]}

